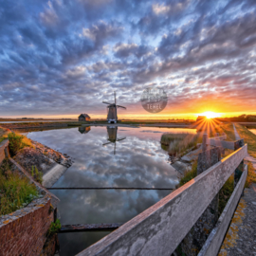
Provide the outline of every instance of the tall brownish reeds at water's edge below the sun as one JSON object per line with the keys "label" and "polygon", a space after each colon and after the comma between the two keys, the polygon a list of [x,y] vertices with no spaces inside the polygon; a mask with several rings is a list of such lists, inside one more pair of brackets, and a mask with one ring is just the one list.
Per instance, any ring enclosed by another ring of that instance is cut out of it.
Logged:
{"label": "tall brownish reeds at water's edge below the sun", "polygon": [[183,155],[187,150],[194,148],[200,142],[202,142],[201,134],[163,134],[161,137],[161,144],[170,144],[168,149],[169,155]]}

